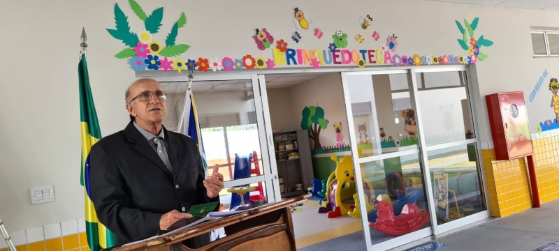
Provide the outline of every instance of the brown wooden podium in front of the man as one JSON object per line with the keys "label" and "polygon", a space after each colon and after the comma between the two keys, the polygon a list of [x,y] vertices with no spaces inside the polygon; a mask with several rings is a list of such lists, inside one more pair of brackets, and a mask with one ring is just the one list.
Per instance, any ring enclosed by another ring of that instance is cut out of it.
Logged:
{"label": "brown wooden podium in front of the man", "polygon": [[161,236],[133,245],[110,248],[106,250],[128,251],[168,251],[171,245],[189,238],[224,228],[226,237],[212,241],[201,248],[190,249],[182,246],[182,250],[296,250],[295,233],[291,220],[291,206],[311,195],[300,195],[284,201],[254,208],[226,218],[220,218],[201,225],[196,225],[172,235]]}

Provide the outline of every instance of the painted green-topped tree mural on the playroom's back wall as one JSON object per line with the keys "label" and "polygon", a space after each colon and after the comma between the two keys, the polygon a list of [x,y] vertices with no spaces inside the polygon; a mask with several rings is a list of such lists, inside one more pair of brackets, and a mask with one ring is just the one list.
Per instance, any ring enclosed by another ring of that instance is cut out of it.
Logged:
{"label": "painted green-topped tree mural on the playroom's back wall", "polygon": [[301,128],[309,132],[309,137],[314,142],[314,149],[321,149],[320,131],[326,129],[328,120],[324,119],[324,109],[319,106],[305,107],[302,112]]}

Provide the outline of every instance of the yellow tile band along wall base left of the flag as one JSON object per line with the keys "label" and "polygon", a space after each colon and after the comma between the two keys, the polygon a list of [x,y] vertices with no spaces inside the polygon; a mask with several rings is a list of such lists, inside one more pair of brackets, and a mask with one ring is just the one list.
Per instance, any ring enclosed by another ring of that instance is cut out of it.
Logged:
{"label": "yellow tile band along wall base left of the flag", "polygon": [[[85,232],[71,234],[59,238],[52,238],[46,241],[18,245],[17,251],[91,251],[87,246],[87,236]],[[9,251],[8,248],[0,251]]]}

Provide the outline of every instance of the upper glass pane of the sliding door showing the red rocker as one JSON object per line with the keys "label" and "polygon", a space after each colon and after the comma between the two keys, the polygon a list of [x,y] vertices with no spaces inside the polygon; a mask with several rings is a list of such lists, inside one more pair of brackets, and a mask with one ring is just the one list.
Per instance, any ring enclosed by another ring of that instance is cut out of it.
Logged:
{"label": "upper glass pane of the sliding door showing the red rocker", "polygon": [[347,76],[361,158],[417,148],[409,75]]}

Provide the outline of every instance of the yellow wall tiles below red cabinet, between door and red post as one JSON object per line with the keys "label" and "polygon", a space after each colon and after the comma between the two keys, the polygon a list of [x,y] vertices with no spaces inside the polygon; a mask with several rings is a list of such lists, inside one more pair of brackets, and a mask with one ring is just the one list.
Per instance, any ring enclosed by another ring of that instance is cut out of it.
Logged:
{"label": "yellow wall tiles below red cabinet, between door and red post", "polygon": [[532,207],[525,162],[495,160],[494,149],[481,151],[493,217],[506,217]]}

